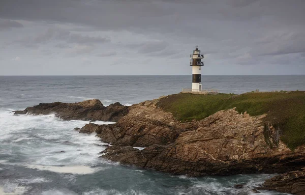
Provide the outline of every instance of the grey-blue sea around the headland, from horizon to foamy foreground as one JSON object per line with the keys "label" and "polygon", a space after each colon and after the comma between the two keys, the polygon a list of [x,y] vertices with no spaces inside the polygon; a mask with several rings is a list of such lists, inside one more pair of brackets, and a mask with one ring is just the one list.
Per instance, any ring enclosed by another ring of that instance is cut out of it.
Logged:
{"label": "grey-blue sea around the headland, from horizon to foamy foreground", "polygon": [[[95,134],[73,130],[88,121],[12,113],[39,103],[94,98],[104,105],[132,105],[179,93],[191,82],[191,75],[0,76],[0,194],[256,194],[252,188],[274,175],[191,178],[123,166],[100,157],[105,147]],[[305,91],[305,75],[202,75],[202,88],[234,94]]]}

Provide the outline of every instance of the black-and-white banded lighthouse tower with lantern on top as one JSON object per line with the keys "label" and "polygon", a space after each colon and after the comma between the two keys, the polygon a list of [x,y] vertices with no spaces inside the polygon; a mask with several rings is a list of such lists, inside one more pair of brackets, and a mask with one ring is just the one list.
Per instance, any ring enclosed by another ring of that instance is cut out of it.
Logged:
{"label": "black-and-white banded lighthouse tower with lantern on top", "polygon": [[193,51],[193,54],[190,54],[190,66],[192,66],[192,91],[200,92],[201,91],[201,66],[203,66],[203,55],[200,54],[200,50],[198,50],[198,46]]}

